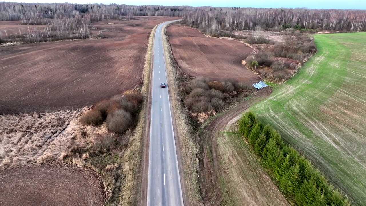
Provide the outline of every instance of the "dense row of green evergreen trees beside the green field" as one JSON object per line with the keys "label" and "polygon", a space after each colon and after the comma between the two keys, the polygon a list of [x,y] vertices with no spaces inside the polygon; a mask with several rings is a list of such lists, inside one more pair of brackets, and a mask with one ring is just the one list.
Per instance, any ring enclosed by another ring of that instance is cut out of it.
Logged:
{"label": "dense row of green evergreen trees beside the green field", "polygon": [[279,132],[263,125],[252,112],[238,121],[238,133],[246,138],[277,186],[295,205],[339,205],[350,202],[294,148],[286,145]]}

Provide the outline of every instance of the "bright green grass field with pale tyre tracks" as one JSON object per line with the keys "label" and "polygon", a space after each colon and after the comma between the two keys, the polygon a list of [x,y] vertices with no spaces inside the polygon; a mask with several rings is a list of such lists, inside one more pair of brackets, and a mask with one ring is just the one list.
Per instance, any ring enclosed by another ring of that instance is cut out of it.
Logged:
{"label": "bright green grass field with pale tyre tracks", "polygon": [[318,53],[251,107],[340,188],[366,205],[366,33],[315,35]]}

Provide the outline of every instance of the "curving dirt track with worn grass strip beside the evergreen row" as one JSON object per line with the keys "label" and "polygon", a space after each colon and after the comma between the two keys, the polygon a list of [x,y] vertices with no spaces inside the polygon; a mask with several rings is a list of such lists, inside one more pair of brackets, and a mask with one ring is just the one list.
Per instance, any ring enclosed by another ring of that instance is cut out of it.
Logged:
{"label": "curving dirt track with worn grass strip beside the evergreen row", "polygon": [[[243,148],[238,148],[237,151],[235,148],[232,150],[229,148],[231,151],[225,150],[228,140],[225,140],[225,135],[220,133],[221,131],[226,132],[227,126],[238,120],[244,110],[265,99],[271,92],[270,88],[260,91],[251,100],[240,103],[227,113],[215,118],[203,129],[205,131],[203,135],[206,138],[202,145],[206,147],[203,147],[203,161],[200,165],[200,185],[206,205],[220,205],[224,203],[223,200],[234,205],[236,201],[238,201],[236,205],[243,203],[247,205],[288,204],[265,171],[258,169],[258,164],[257,168],[251,168],[253,162],[257,163],[257,161],[255,158],[248,157],[250,152],[238,154],[242,153]],[[236,146],[235,142],[231,143],[229,147]],[[220,154],[220,151],[225,154]],[[229,174],[235,174],[236,177],[225,178]],[[241,178],[243,176],[244,178]],[[240,187],[237,187],[238,183],[241,184]]]}

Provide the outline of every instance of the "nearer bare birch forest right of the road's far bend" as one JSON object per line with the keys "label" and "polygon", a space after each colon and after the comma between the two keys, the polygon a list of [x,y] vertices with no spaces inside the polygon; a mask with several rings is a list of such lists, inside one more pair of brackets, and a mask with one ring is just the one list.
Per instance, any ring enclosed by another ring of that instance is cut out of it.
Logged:
{"label": "nearer bare birch forest right of the road's far bend", "polygon": [[366,30],[366,10],[309,10],[305,8],[217,8],[197,7],[184,14],[186,24],[208,32],[253,30],[259,26],[274,30],[309,29],[359,32]]}

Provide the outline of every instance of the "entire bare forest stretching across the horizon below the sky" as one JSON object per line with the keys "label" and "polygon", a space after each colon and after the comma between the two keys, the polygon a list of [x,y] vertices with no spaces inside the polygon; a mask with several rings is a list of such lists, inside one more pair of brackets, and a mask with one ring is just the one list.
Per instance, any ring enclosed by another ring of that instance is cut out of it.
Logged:
{"label": "entire bare forest stretching across the horizon below the sky", "polygon": [[[90,14],[97,20],[133,16],[181,16],[187,24],[208,30],[262,28],[366,31],[366,10],[317,10],[306,8],[229,8],[189,6],[132,6],[117,4],[0,3],[0,21],[34,18],[73,18]],[[93,21],[93,18],[91,19]]]}

